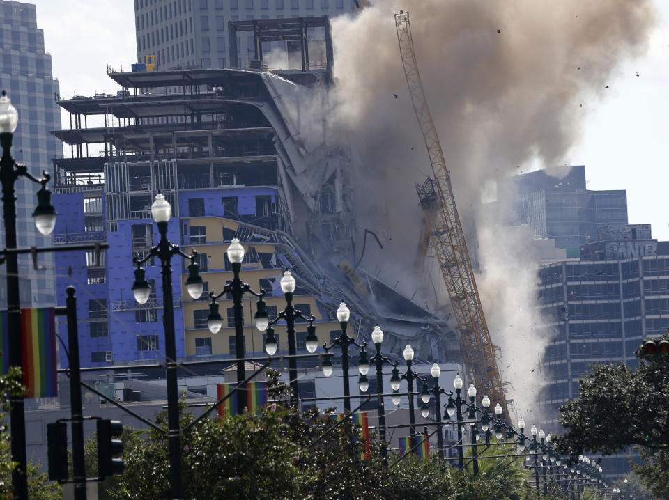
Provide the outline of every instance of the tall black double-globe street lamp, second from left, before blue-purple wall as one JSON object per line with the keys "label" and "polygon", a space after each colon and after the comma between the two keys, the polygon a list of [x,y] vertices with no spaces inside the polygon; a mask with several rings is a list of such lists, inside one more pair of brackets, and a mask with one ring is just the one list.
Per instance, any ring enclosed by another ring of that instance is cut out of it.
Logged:
{"label": "tall black double-globe street lamp, second from left, before blue-purple wall", "polygon": [[199,265],[195,262],[197,252],[193,251],[191,255],[181,251],[178,245],[172,244],[167,240],[167,227],[171,218],[172,208],[162,193],[155,196],[155,201],[151,205],[151,215],[157,223],[160,241],[148,251],[144,258],[140,258],[139,253],[134,256],[133,261],[137,265],[134,271],[134,283],[132,283],[132,293],[134,299],[139,304],[146,304],[151,296],[151,286],[144,275],[144,268],[141,267],[152,257],[160,259],[162,273],[162,302],[163,302],[163,325],[165,332],[165,374],[167,378],[167,439],[169,446],[169,474],[170,491],[173,499],[182,497],[181,481],[181,430],[179,426],[179,394],[177,384],[177,364],[176,364],[176,341],[174,334],[174,304],[172,297],[172,268],[171,259],[173,256],[181,256],[190,260],[188,266],[188,279],[186,280],[186,290],[193,299],[198,299],[204,290],[204,282],[199,275]]}

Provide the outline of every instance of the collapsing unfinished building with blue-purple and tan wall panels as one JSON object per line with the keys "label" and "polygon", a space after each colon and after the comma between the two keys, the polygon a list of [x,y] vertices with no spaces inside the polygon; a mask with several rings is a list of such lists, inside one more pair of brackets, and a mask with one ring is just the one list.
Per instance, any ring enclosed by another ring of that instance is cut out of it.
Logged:
{"label": "collapsing unfinished building with blue-purple and tan wall panels", "polygon": [[[417,359],[458,360],[458,339],[445,318],[400,295],[384,276],[357,267],[362,244],[354,244],[351,155],[325,135],[305,139],[315,118],[303,97],[333,85],[328,18],[233,22],[231,29],[252,30],[259,48],[266,40],[305,40],[300,50],[306,63],[268,71],[260,50],[248,69],[110,68],[109,77],[121,86],[116,95],[58,99],[71,127],[53,133],[71,147],[72,157],[54,160],[60,214],[54,243],[109,244],[100,256],[56,255],[56,267],[66,270],[59,273],[59,302],[70,284],[84,298],[77,311],[82,365],[131,364],[163,351],[162,292],[155,286],[160,263],[146,264],[155,290],[146,304],[137,304],[130,291],[132,256],[157,242],[150,207],[159,191],[172,205],[168,237],[185,251],[197,249],[206,290],[219,292],[231,279],[225,249],[238,237],[247,248],[242,277],[254,290],[268,291],[270,318],[285,304],[279,279],[289,269],[298,281],[295,306],[316,317],[321,343],[339,335],[334,313],[343,300],[351,308],[349,333],[360,341],[369,341],[378,322],[386,354],[399,357],[411,343]],[[314,68],[307,39],[318,29],[325,63]],[[173,285],[178,357],[220,357],[223,363],[234,357],[231,297],[219,302],[227,311],[222,330],[210,334],[206,293],[190,299],[186,270],[175,272],[181,274]],[[263,352],[263,334],[252,326],[254,306],[244,303],[248,356]],[[306,324],[300,326],[298,350],[305,350]]]}

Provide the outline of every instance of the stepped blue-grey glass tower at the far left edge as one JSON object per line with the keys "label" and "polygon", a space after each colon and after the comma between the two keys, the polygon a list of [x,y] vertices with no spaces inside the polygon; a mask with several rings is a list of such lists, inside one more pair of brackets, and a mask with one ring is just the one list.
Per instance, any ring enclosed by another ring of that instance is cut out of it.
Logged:
{"label": "stepped blue-grey glass tower at the far left edge", "polygon": [[[19,112],[12,155],[17,163],[26,164],[31,175],[41,178],[44,170],[51,170],[52,158],[62,155],[60,142],[49,134],[61,126],[61,116],[54,102],[59,85],[52,75],[51,56],[45,52],[44,33],[37,27],[34,5],[0,0],[0,47],[0,90],[6,91]],[[32,217],[40,185],[19,178],[15,186],[18,246],[51,244],[50,237],[37,231]],[[4,225],[0,224],[4,245],[3,233]],[[48,306],[55,302],[53,256],[41,254],[38,266],[44,269],[36,270],[30,256],[19,257],[22,307]],[[6,300],[6,287],[0,286],[1,304],[6,304]]]}

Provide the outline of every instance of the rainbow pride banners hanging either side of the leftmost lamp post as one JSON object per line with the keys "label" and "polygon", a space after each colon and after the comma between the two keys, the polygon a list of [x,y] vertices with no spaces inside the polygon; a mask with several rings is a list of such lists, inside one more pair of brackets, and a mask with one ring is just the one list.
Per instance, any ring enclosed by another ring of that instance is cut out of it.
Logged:
{"label": "rainbow pride banners hanging either side of the leftmost lamp post", "polygon": [[[9,370],[9,321],[7,311],[0,311],[0,364]],[[21,347],[23,384],[26,398],[58,396],[56,375],[56,316],[53,307],[21,309]]]}

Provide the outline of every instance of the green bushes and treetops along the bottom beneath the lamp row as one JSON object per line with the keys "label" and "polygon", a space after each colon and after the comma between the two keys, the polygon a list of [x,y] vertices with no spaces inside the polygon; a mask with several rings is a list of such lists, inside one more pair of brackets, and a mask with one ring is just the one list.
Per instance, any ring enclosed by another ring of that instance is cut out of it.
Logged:
{"label": "green bushes and treetops along the bottom beneath the lamp row", "polygon": [[[270,398],[279,402],[289,389],[272,376]],[[328,414],[328,412],[325,412]],[[167,414],[157,424],[167,429]],[[181,427],[194,416],[180,407]],[[513,460],[512,448],[479,446],[479,473],[440,462],[407,457],[387,469],[378,439],[364,458],[360,428],[334,421],[311,409],[300,414],[282,403],[260,414],[207,419],[183,432],[183,486],[187,499],[272,500],[534,500],[528,471]],[[142,434],[142,432],[144,432]],[[316,442],[316,439],[318,442]],[[169,498],[167,438],[155,430],[124,430],[125,474],[105,481],[102,499]],[[315,444],[314,444],[315,443]],[[312,446],[313,445],[313,446]],[[495,455],[506,454],[500,459]],[[87,471],[95,475],[95,442],[86,444]],[[390,457],[390,463],[397,457]],[[553,486],[551,486],[553,488]],[[550,499],[563,499],[551,490]]]}

